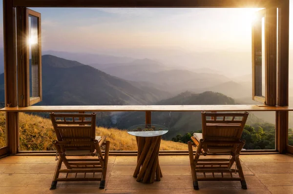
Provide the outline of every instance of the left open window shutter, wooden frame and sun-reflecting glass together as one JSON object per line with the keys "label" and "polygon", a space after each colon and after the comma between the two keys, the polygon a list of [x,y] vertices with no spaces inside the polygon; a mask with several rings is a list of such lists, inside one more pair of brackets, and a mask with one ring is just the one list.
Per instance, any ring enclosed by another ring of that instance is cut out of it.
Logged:
{"label": "left open window shutter, wooden frame and sun-reflecting glass together", "polygon": [[17,8],[17,56],[19,106],[42,101],[41,14]]}

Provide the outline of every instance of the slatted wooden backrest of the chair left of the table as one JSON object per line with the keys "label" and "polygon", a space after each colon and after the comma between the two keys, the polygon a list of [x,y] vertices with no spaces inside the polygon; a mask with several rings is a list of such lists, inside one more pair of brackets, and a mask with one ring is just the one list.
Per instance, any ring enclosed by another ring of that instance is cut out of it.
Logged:
{"label": "slatted wooden backrest of the chair left of the table", "polygon": [[[94,151],[93,141],[96,133],[96,114],[55,114],[50,118],[58,141],[76,142],[76,144],[63,144],[63,152],[70,150]],[[84,142],[89,142],[84,143]]]}

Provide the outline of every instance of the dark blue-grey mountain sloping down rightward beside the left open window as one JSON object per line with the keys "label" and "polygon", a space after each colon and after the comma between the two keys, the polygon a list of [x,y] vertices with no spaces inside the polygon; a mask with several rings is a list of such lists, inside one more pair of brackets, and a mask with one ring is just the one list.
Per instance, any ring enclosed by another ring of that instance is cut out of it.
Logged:
{"label": "dark blue-grey mountain sloping down rightward beside the left open window", "polygon": [[[2,87],[3,74],[0,77]],[[4,91],[0,92],[4,97]],[[40,105],[138,105],[170,96],[165,91],[149,86],[141,89],[91,66],[52,55],[42,56],[42,93]]]}

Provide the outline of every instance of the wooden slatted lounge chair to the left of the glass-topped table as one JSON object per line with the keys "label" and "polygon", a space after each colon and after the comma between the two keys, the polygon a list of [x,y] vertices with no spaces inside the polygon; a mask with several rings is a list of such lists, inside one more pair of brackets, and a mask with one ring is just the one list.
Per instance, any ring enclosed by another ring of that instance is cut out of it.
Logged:
{"label": "wooden slatted lounge chair to the left of the glass-topped table", "polygon": [[96,114],[51,113],[50,117],[58,139],[53,145],[59,155],[50,190],[56,189],[58,181],[101,181],[100,189],[104,189],[110,142],[104,142],[106,136],[95,136]]}

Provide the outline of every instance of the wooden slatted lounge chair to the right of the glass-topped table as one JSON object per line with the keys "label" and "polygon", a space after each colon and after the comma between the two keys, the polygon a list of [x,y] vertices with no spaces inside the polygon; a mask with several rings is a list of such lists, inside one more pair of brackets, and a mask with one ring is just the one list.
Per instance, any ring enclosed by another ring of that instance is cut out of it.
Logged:
{"label": "wooden slatted lounge chair to the right of the glass-topped table", "polygon": [[[188,142],[188,153],[192,172],[193,188],[198,190],[198,181],[240,181],[247,189],[239,160],[245,140],[240,140],[249,113],[202,112],[202,134],[194,133]],[[209,118],[209,119],[208,119]],[[193,156],[192,146],[196,146]],[[230,155],[228,158],[199,159],[201,155]],[[232,167],[233,163],[236,167]],[[198,174],[203,176],[198,177]],[[232,173],[236,173],[233,176]]]}

